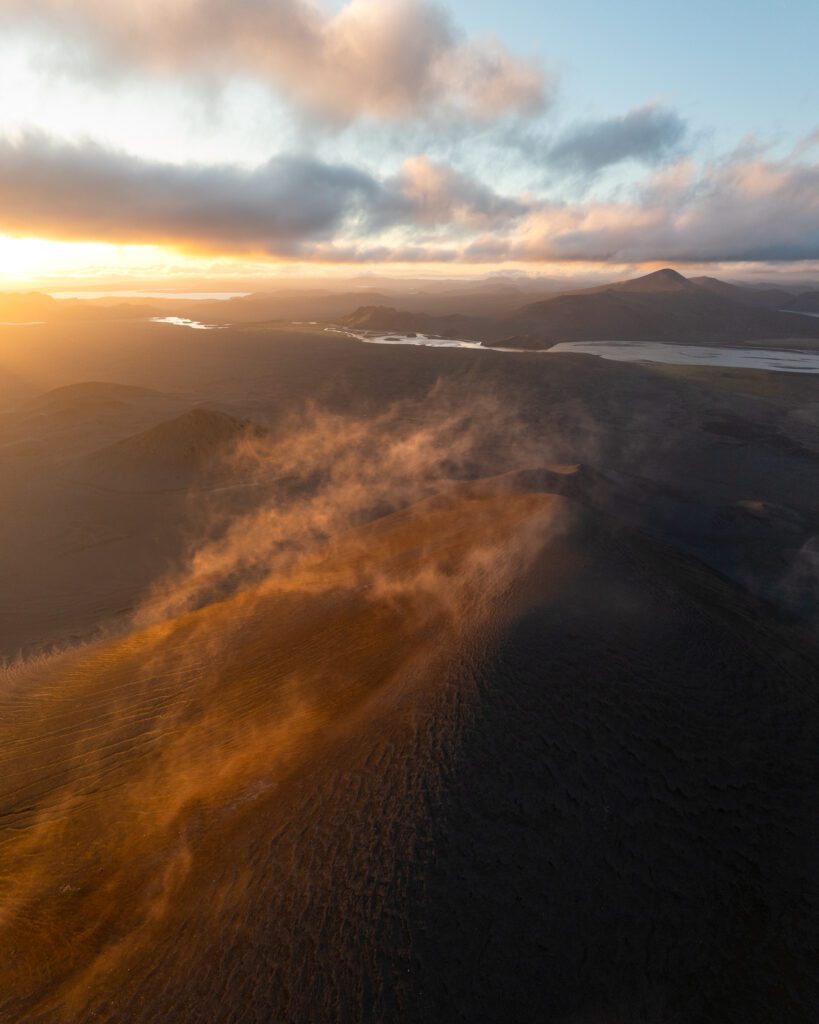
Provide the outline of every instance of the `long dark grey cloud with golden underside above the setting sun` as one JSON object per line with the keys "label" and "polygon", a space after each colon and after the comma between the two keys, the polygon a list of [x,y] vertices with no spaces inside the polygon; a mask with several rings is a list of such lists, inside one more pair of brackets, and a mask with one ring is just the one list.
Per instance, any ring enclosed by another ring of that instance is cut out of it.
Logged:
{"label": "long dark grey cloud with golden underside above the setting sun", "polygon": [[306,157],[276,157],[247,171],[39,136],[0,142],[4,229],[49,238],[287,251],[342,231],[381,196],[364,172]]}

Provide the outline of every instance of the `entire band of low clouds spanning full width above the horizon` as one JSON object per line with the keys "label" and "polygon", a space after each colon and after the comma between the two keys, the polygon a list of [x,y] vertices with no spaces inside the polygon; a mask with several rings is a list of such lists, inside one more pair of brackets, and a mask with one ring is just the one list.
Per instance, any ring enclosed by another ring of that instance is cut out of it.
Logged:
{"label": "entire band of low clouds spanning full width above the horizon", "polygon": [[811,260],[819,164],[745,146],[655,172],[629,201],[572,204],[422,156],[381,179],[307,156],[176,165],[29,135],[0,141],[0,218],[17,234],[325,262]]}

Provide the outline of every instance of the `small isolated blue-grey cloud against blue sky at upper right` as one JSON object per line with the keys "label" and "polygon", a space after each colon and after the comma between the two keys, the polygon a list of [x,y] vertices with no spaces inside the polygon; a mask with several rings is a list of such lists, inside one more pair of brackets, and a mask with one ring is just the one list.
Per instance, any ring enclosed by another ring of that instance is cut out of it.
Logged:
{"label": "small isolated blue-grey cloud against blue sky at upper right", "polygon": [[629,160],[656,165],[679,151],[686,132],[686,122],[675,111],[639,106],[620,117],[577,125],[549,145],[544,159],[583,174]]}

